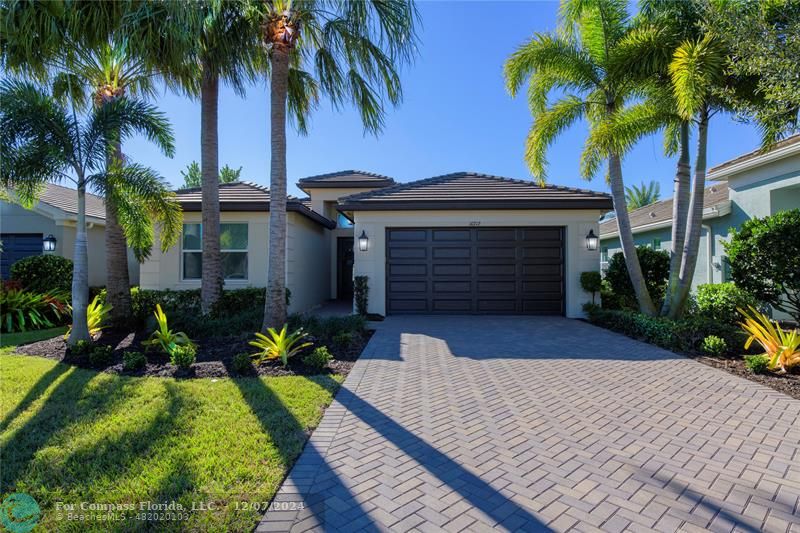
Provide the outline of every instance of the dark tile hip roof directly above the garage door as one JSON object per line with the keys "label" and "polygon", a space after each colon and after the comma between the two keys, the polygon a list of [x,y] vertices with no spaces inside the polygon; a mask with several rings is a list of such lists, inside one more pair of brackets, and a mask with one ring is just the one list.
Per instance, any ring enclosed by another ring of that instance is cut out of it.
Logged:
{"label": "dark tile hip roof directly above the garage door", "polygon": [[456,172],[339,200],[340,211],[388,209],[611,209],[611,196],[532,181]]}

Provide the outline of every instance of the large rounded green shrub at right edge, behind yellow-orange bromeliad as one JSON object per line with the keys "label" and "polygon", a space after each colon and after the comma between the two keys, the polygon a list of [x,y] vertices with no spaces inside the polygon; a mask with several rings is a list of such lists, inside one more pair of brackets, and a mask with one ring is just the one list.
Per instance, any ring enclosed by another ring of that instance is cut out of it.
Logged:
{"label": "large rounded green shrub at right edge, behind yellow-orange bromeliad", "polygon": [[725,251],[739,287],[800,322],[798,228],[800,209],[754,218],[733,231]]}

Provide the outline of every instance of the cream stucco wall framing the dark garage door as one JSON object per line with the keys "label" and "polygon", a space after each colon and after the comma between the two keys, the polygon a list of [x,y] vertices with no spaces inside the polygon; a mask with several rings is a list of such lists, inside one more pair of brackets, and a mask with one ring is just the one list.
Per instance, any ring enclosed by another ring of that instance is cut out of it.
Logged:
{"label": "cream stucco wall framing the dark garage door", "polygon": [[582,306],[591,295],[580,286],[581,272],[600,268],[600,252],[586,249],[590,229],[599,232],[598,210],[486,210],[486,211],[358,211],[356,235],[365,231],[369,250],[355,250],[355,275],[369,277],[369,312],[386,314],[386,228],[389,227],[482,227],[564,226],[566,228],[566,314],[584,316]]}

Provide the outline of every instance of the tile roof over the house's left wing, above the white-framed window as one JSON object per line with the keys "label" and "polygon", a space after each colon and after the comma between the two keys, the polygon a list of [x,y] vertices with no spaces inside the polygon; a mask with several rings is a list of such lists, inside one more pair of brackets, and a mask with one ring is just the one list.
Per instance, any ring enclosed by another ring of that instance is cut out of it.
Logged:
{"label": "tile roof over the house's left wing, above the white-framed window", "polygon": [[[200,187],[179,189],[175,192],[184,211],[200,211],[203,196]],[[232,183],[222,183],[219,186],[220,211],[269,211],[269,202],[269,189],[256,183],[234,181]],[[287,211],[300,213],[325,227],[336,227],[335,222],[312,211],[299,198],[289,196],[286,209]]]}

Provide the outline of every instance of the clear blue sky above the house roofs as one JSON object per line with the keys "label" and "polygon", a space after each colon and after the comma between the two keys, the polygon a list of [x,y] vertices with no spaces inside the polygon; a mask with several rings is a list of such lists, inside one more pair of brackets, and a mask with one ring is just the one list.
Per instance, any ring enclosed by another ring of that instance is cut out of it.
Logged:
{"label": "clear blue sky above the house roofs", "polygon": [[[468,170],[530,179],[523,161],[531,124],[525,99],[511,99],[504,87],[503,62],[534,32],[552,31],[557,2],[419,2],[422,17],[419,57],[402,73],[404,100],[386,116],[383,133],[364,135],[352,109],[332,110],[323,101],[307,136],[291,126],[288,138],[290,193],[304,176],[346,169],[386,174],[411,181]],[[269,184],[269,96],[266,83],[251,87],[244,99],[220,91],[220,166],[242,168],[242,178]],[[157,102],[176,137],[173,159],[141,139],[125,152],[157,169],[173,185],[180,170],[200,160],[200,106],[166,93]],[[607,190],[598,176],[580,178],[578,158],[586,129],[577,125],[549,151],[549,182]],[[715,165],[756,148],[754,127],[715,117],[709,132],[709,163]],[[662,198],[671,192],[674,161],[663,156],[660,137],[643,140],[624,160],[627,184],[657,180]]]}

